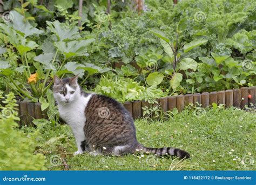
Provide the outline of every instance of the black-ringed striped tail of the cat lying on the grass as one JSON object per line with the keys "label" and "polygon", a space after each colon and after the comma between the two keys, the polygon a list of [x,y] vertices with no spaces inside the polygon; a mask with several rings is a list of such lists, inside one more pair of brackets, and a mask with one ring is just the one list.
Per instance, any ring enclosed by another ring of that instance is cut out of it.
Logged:
{"label": "black-ringed striped tail of the cat lying on the grass", "polygon": [[157,156],[163,155],[174,155],[179,157],[180,159],[188,159],[190,158],[190,154],[185,150],[173,147],[163,147],[163,148],[150,148],[139,145],[136,149],[139,152],[144,152],[147,154],[156,154]]}

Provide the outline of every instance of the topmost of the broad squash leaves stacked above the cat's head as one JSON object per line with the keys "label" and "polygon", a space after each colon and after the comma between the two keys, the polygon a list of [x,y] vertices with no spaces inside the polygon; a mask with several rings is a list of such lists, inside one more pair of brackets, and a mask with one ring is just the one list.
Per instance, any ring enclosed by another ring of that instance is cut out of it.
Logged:
{"label": "topmost of the broad squash leaves stacked above the cat's head", "polygon": [[58,20],[55,22],[46,22],[47,28],[57,35],[59,41],[63,40],[74,40],[80,37],[78,27],[66,28],[64,23],[60,23]]}

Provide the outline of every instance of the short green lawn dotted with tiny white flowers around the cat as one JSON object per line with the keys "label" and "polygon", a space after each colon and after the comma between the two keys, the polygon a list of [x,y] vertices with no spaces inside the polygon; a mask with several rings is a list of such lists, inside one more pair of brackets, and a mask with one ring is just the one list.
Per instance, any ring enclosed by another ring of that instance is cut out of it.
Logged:
{"label": "short green lawn dotted with tiny white flowers around the cat", "polygon": [[[255,170],[255,112],[209,109],[196,117],[188,109],[167,121],[136,120],[137,139],[144,146],[179,147],[191,159],[146,154],[72,156],[75,139],[69,126],[42,129],[41,147],[49,170]],[[53,138],[53,139],[51,139]]]}

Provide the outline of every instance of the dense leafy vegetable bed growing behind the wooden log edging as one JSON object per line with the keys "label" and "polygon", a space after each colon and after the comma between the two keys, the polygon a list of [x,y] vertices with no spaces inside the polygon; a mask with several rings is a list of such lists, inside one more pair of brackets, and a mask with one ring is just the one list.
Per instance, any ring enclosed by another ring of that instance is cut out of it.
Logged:
{"label": "dense leafy vegetable bed growing behind the wooden log edging", "polygon": [[146,1],[138,14],[131,2],[113,1],[107,15],[106,1],[86,1],[78,27],[75,1],[7,1],[4,10],[12,10],[0,23],[1,86],[43,109],[53,74],[79,74],[86,91],[122,102],[252,86],[255,5]]}

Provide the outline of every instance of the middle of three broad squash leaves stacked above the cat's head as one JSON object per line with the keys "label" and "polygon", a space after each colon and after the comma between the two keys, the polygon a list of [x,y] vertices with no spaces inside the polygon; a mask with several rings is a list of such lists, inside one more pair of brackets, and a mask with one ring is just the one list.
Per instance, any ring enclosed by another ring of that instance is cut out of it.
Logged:
{"label": "middle of three broad squash leaves stacked above the cat's head", "polygon": [[55,45],[66,58],[70,58],[73,56],[88,56],[86,47],[94,41],[95,39],[75,40],[68,43],[60,41],[56,42]]}

